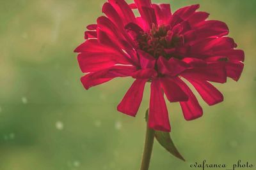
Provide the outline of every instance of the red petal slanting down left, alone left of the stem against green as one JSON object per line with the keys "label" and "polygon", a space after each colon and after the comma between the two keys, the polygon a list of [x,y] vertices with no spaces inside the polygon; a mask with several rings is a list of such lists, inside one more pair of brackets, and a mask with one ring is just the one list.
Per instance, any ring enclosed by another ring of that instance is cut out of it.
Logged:
{"label": "red petal slanting down left, alone left of the stem against green", "polygon": [[117,110],[135,117],[140,108],[140,103],[143,97],[143,91],[147,79],[137,79],[132,83],[130,89],[126,92],[121,103],[118,104]]}

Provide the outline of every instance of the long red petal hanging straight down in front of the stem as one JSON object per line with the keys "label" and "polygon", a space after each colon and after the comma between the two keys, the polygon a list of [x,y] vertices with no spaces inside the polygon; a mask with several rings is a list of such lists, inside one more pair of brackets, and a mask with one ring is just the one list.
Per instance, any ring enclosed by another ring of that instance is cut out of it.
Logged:
{"label": "long red petal hanging straight down in front of the stem", "polygon": [[148,127],[156,131],[171,131],[168,111],[158,79],[151,83]]}

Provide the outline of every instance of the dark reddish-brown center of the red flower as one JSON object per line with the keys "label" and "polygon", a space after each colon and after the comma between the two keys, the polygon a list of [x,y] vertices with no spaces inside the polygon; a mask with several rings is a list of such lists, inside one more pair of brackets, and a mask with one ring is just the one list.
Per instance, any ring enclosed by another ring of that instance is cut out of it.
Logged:
{"label": "dark reddish-brown center of the red flower", "polygon": [[141,50],[150,53],[156,59],[160,56],[166,59],[171,57],[180,59],[180,56],[175,53],[175,47],[183,44],[183,38],[173,34],[169,26],[153,25],[150,32],[143,32],[138,36],[137,42]]}

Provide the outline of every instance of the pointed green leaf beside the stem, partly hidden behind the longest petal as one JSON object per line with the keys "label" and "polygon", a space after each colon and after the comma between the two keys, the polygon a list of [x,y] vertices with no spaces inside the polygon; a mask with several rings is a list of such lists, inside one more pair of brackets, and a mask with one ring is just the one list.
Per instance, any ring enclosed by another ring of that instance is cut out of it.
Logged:
{"label": "pointed green leaf beside the stem, partly hidden behind the longest petal", "polygon": [[[148,122],[148,110],[146,111],[145,116],[146,122]],[[173,156],[177,157],[178,159],[181,159],[183,161],[186,161],[182,155],[177,150],[176,146],[174,145],[172,138],[170,136],[170,133],[168,132],[162,132],[162,131],[155,131],[155,138],[160,143],[161,146],[163,146],[168,152],[170,152]]]}

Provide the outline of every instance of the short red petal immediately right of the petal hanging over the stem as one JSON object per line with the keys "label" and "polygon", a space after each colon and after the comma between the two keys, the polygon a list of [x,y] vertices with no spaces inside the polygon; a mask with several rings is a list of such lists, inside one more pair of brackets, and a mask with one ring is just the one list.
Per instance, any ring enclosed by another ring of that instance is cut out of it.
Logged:
{"label": "short red petal immediately right of the petal hanging over the stem", "polygon": [[170,102],[188,101],[187,94],[180,89],[172,78],[161,78],[161,86]]}

